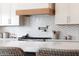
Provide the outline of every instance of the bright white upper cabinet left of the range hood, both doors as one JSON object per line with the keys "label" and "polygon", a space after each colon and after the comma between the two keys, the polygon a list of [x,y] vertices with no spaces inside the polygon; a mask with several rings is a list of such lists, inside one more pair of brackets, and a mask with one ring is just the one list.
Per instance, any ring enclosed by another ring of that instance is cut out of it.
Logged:
{"label": "bright white upper cabinet left of the range hood, both doors", "polygon": [[19,16],[16,16],[15,4],[0,4],[0,26],[19,25]]}

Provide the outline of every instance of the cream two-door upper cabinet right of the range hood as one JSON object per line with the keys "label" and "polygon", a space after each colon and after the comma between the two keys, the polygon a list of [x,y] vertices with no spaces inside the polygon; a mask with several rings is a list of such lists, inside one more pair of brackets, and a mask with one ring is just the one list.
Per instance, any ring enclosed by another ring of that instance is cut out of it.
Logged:
{"label": "cream two-door upper cabinet right of the range hood", "polygon": [[79,24],[78,3],[57,3],[55,10],[55,24]]}

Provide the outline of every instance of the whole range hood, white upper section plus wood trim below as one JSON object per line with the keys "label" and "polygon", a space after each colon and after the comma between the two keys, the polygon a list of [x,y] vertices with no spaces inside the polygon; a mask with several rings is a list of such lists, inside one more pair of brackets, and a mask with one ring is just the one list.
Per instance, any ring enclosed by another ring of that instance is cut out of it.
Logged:
{"label": "whole range hood, white upper section plus wood trim below", "polygon": [[55,14],[55,4],[48,3],[18,3],[17,15]]}

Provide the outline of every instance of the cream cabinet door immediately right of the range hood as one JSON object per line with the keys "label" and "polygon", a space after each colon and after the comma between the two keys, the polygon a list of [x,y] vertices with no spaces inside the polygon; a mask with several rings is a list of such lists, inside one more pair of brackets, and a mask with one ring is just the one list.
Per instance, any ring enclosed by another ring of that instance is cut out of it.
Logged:
{"label": "cream cabinet door immediately right of the range hood", "polygon": [[55,10],[56,10],[55,24],[67,24],[68,4],[67,3],[56,3]]}

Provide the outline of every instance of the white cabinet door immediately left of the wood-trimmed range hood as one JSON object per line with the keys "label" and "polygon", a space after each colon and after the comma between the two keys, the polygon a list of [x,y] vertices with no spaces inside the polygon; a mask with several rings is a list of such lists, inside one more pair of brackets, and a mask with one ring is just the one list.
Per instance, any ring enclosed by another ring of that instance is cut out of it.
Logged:
{"label": "white cabinet door immediately left of the wood-trimmed range hood", "polygon": [[16,15],[16,4],[11,4],[11,25],[19,25],[19,16]]}

